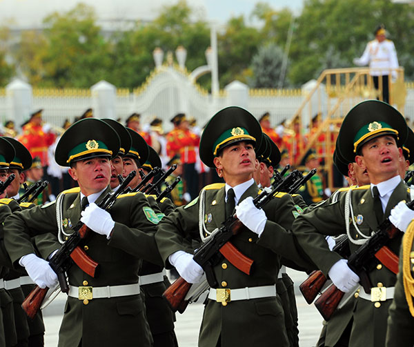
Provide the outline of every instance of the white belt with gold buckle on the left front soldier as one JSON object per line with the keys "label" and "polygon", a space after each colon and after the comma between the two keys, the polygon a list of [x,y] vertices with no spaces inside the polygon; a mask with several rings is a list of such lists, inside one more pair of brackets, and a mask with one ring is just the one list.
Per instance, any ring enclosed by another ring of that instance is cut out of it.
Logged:
{"label": "white belt with gold buckle on the left front soldier", "polygon": [[106,286],[106,287],[75,287],[69,286],[70,297],[77,297],[79,300],[92,300],[110,297],[125,297],[127,295],[139,294],[139,284],[126,284],[124,286]]}

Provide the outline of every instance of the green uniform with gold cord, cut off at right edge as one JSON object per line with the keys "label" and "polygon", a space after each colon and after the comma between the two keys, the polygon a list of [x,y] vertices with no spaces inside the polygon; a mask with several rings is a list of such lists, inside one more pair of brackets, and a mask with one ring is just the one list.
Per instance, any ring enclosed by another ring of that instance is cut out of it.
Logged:
{"label": "green uniform with gold cord, cut off at right edge", "polygon": [[[407,235],[404,235],[407,237]],[[412,241],[411,241],[412,242]],[[414,244],[411,252],[406,257],[410,257],[411,276],[414,275]],[[414,345],[414,317],[411,315],[404,293],[402,281],[402,250],[400,252],[400,268],[395,284],[393,304],[390,306],[388,315],[388,328],[386,332],[386,347],[412,347]],[[411,297],[411,299],[413,299]]]}

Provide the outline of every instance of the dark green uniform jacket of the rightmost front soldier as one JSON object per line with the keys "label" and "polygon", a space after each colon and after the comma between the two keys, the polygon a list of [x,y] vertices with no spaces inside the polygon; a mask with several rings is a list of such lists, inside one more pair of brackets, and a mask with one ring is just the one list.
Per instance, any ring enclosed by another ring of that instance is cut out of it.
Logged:
{"label": "dark green uniform jacket of the rightmost front soldier", "polygon": [[[355,223],[360,232],[369,236],[373,230],[377,230],[377,219],[373,210],[373,197],[369,186],[351,188],[351,202]],[[321,206],[297,217],[293,224],[293,232],[299,241],[299,245],[313,259],[315,264],[327,276],[339,259],[342,259],[336,252],[331,252],[325,240],[325,235],[340,235],[346,232],[346,222],[344,217],[346,194],[342,194],[333,204],[322,204]],[[393,191],[384,216],[388,217],[391,209],[401,200],[410,200],[409,190],[403,181]],[[359,221],[359,222],[358,222]],[[357,235],[351,220],[350,234],[353,239],[360,239]],[[387,246],[396,254],[400,251],[401,236],[388,242]],[[355,252],[359,246],[350,243],[351,252]],[[368,273],[373,286],[378,283],[384,287],[395,285],[395,274],[385,266],[378,268],[373,266],[373,270]],[[330,324],[326,329],[326,346],[334,346],[339,337],[344,332],[349,321],[353,318],[351,330],[350,346],[384,346],[386,334],[386,317],[391,300],[381,302],[379,308],[375,308],[374,303],[362,298],[352,297],[353,308],[346,308],[342,313],[335,313],[330,319]]]}

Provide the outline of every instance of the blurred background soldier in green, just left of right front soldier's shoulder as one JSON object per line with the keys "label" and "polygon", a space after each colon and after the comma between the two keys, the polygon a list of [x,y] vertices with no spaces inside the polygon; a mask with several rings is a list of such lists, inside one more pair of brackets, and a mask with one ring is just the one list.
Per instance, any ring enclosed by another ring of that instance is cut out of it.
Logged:
{"label": "blurred background soldier in green, just left of right front soldier's shoulder", "polygon": [[[304,175],[306,175],[313,168],[317,168],[319,166],[315,150],[311,149],[306,152],[302,164],[306,166]],[[299,194],[302,195],[308,206],[322,201],[324,196],[324,188],[322,186],[321,177],[317,174],[313,175],[311,179],[309,179],[306,184],[299,189]]]}

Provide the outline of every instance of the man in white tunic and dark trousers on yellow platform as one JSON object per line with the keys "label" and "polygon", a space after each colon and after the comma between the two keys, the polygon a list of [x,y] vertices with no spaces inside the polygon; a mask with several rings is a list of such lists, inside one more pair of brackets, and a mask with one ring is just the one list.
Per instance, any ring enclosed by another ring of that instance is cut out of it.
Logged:
{"label": "man in white tunic and dark trousers on yellow platform", "polygon": [[[393,41],[386,39],[386,30],[384,24],[377,26],[374,31],[375,40],[369,41],[366,45],[362,57],[353,59],[355,65],[365,66],[369,63],[372,68],[371,76],[374,80],[376,90],[382,87],[382,101],[389,102],[389,86],[388,76],[391,74],[393,78],[397,78],[398,59],[397,52]],[[381,70],[383,69],[383,70]],[[382,77],[380,83],[378,79]]]}

